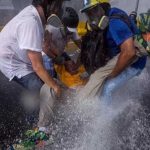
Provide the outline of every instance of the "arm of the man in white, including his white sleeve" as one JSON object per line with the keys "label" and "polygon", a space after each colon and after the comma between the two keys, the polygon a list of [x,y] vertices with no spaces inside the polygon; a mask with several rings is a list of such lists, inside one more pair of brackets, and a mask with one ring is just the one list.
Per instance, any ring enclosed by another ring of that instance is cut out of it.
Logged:
{"label": "arm of the man in white, including his white sleeve", "polygon": [[49,87],[53,88],[57,95],[60,94],[60,87],[55,83],[43,66],[42,43],[43,28],[37,20],[31,19],[20,24],[17,30],[17,42],[22,51],[26,51],[29,62],[39,78]]}

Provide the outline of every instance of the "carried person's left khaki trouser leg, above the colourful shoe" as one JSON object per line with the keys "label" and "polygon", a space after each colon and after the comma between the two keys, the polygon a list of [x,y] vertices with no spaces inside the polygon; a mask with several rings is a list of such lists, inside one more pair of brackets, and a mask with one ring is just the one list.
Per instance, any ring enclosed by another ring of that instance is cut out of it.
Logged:
{"label": "carried person's left khaki trouser leg, above the colourful shoe", "polygon": [[64,104],[67,99],[73,98],[76,94],[76,90],[71,90],[66,88],[58,82],[61,86],[62,94],[60,97],[56,97],[55,93],[44,84],[40,92],[40,112],[39,112],[39,122],[38,127],[47,127],[50,123],[51,118],[53,117],[54,106],[59,104]]}

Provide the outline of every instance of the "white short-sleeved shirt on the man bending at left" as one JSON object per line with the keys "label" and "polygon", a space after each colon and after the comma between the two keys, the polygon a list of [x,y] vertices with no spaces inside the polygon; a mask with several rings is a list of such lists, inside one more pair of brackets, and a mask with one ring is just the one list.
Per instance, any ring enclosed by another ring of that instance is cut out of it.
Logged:
{"label": "white short-sleeved shirt on the man bending at left", "polygon": [[32,5],[24,8],[0,32],[0,71],[12,80],[33,72],[27,50],[42,52],[44,28]]}

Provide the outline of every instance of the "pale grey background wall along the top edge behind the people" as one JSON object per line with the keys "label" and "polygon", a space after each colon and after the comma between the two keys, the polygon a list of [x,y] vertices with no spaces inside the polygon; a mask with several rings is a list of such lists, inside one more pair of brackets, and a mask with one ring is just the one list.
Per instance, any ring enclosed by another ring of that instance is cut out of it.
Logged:
{"label": "pale grey background wall along the top edge behind the people", "polygon": [[[31,4],[32,0],[0,0],[0,4],[8,4],[7,7],[14,8],[16,13],[23,9],[25,6],[28,4]],[[113,7],[119,7],[123,10],[125,10],[127,13],[130,13],[133,11],[136,7],[136,1],[137,0],[111,0],[111,4]],[[15,13],[9,12],[8,10],[4,13],[2,11],[3,5],[0,5],[1,10],[0,10],[0,24],[3,22],[3,20],[6,20],[5,18],[9,16],[13,16]],[[80,20],[86,20],[86,17],[84,14],[80,13],[80,9],[83,7],[83,0],[70,0],[65,2],[66,6],[71,6],[77,10],[80,16]],[[5,6],[6,7],[6,6]],[[140,0],[139,3],[139,10],[138,13],[140,12],[146,12],[147,9],[150,8],[150,0]],[[10,8],[9,8],[10,9]],[[12,15],[11,15],[12,14]],[[11,17],[8,17],[11,18]]]}

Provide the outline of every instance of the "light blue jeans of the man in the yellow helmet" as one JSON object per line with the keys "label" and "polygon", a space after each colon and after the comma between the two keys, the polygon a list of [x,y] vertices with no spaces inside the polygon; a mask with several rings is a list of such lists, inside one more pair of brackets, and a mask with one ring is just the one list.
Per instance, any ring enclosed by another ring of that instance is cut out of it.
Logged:
{"label": "light blue jeans of the man in the yellow helmet", "polygon": [[100,99],[104,101],[105,104],[110,104],[112,102],[112,93],[123,86],[128,80],[137,76],[141,73],[142,69],[136,69],[133,67],[128,67],[117,77],[107,80],[103,86]]}

